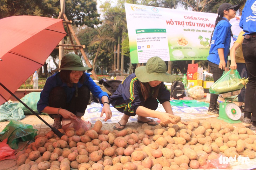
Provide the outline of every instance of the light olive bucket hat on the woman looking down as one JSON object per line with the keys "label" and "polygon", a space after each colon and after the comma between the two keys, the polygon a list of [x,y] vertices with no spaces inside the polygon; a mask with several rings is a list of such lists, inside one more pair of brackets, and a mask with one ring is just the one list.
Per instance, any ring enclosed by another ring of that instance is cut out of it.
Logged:
{"label": "light olive bucket hat on the woman looking down", "polygon": [[148,59],[146,66],[140,66],[135,69],[135,75],[142,83],[149,81],[173,82],[175,77],[166,73],[166,64],[159,57]]}

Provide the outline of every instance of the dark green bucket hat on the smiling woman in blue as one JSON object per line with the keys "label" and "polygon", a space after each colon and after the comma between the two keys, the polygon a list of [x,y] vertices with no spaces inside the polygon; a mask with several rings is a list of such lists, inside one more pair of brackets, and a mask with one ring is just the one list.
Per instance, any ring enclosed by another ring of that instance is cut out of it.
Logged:
{"label": "dark green bucket hat on the smiling woman in blue", "polygon": [[52,73],[58,70],[72,70],[72,71],[88,70],[91,72],[93,68],[83,66],[83,62],[78,55],[66,54],[61,59],[60,68],[53,70]]}

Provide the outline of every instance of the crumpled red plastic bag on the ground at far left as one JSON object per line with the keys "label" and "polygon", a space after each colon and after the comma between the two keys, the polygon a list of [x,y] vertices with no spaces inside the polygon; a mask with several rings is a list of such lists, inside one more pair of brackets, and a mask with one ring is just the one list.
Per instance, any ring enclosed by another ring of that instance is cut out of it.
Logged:
{"label": "crumpled red plastic bag on the ground at far left", "polygon": [[0,142],[0,161],[7,159],[15,159],[15,150],[7,144],[7,138]]}

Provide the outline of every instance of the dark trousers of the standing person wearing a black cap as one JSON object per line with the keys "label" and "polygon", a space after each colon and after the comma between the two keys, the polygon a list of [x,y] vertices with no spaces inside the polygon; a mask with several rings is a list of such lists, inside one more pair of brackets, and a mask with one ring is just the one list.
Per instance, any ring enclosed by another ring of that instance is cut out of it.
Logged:
{"label": "dark trousers of the standing person wearing a black cap", "polygon": [[[210,66],[211,73],[213,73],[213,80],[214,82],[216,82],[218,79],[220,79],[224,70],[220,69],[219,65],[214,64],[211,61],[208,61],[208,65]],[[216,108],[218,97],[219,97],[218,95],[211,93],[209,109]]]}

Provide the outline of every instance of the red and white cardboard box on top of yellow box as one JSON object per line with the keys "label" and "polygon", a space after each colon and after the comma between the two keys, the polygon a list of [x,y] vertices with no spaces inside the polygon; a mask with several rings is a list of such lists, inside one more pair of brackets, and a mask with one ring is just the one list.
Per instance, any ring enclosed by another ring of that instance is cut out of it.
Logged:
{"label": "red and white cardboard box on top of yellow box", "polygon": [[198,67],[198,64],[188,64],[187,75],[188,80],[203,80],[203,67]]}

